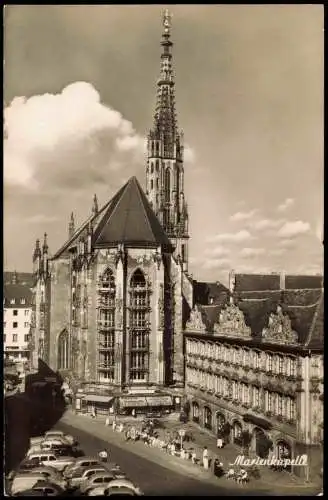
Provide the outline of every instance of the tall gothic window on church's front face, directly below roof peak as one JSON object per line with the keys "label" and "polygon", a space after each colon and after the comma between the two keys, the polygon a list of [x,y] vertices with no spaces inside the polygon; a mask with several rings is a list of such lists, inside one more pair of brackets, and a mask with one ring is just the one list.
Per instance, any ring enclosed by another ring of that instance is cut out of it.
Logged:
{"label": "tall gothic window on church's front face, directly below roof peak", "polygon": [[144,382],[148,379],[149,290],[143,272],[137,269],[130,283],[130,380]]}

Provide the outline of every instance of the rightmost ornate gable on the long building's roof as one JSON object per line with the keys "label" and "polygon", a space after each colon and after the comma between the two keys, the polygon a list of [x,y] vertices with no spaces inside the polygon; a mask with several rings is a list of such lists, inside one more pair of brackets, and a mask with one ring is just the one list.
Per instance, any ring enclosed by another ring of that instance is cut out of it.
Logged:
{"label": "rightmost ornate gable on the long building's roof", "polygon": [[292,329],[290,318],[280,306],[271,313],[267,328],[262,330],[262,339],[277,344],[298,344],[298,334]]}

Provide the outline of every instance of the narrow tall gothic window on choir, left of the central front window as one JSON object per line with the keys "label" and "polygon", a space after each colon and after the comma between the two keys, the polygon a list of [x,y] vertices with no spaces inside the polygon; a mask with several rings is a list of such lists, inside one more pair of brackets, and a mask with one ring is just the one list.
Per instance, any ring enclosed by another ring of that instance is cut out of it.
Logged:
{"label": "narrow tall gothic window on choir, left of the central front window", "polygon": [[106,269],[98,289],[98,379],[115,378],[115,277]]}

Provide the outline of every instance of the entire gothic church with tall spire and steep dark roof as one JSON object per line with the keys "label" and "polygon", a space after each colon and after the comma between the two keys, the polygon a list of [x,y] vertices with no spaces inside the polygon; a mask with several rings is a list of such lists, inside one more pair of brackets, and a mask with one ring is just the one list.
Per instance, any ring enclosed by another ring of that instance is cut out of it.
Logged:
{"label": "entire gothic church with tall spire and steep dark roof", "polygon": [[71,215],[68,239],[52,258],[46,235],[33,256],[34,363],[41,358],[67,376],[117,393],[183,390],[183,318],[192,308],[192,280],[167,12],[163,24],[148,199],[132,177],[103,207],[94,197],[79,228]]}

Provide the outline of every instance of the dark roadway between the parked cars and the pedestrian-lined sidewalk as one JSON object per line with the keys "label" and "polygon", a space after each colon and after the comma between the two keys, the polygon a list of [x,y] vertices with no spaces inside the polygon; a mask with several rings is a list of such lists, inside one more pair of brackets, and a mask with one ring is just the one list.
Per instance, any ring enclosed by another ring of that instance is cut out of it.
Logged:
{"label": "dark roadway between the parked cars and the pedestrian-lined sidewalk", "polygon": [[[173,472],[161,465],[147,460],[133,453],[133,445],[131,452],[123,449],[109,441],[99,439],[85,431],[77,429],[73,426],[62,422],[56,425],[57,429],[64,431],[67,434],[72,434],[86,455],[97,456],[99,450],[106,448],[110,452],[110,461],[120,465],[122,471],[135,482],[145,493],[151,496],[235,496],[235,495],[263,495],[262,492],[247,490],[243,492],[240,488],[227,489],[220,485],[208,484],[204,481],[192,479],[186,475]],[[110,435],[108,436],[110,440]]]}

